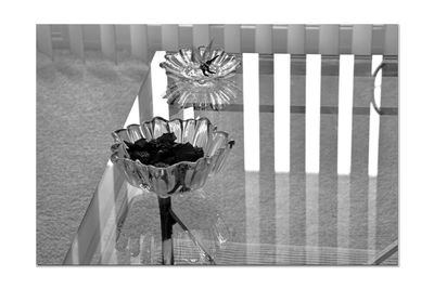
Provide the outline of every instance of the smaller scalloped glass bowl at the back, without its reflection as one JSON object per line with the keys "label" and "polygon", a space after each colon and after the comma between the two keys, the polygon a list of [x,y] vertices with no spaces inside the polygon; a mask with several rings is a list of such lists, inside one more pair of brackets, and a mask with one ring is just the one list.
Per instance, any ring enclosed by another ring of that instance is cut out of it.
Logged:
{"label": "smaller scalloped glass bowl at the back, without its reflection", "polygon": [[159,66],[166,69],[168,77],[176,80],[206,81],[230,77],[241,61],[221,49],[205,47],[180,49],[177,53],[166,53],[166,61]]}

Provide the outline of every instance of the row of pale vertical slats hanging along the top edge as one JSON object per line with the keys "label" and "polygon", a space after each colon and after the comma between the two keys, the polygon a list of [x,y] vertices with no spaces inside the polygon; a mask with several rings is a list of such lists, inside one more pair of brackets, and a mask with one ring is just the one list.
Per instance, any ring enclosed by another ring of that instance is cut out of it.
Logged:
{"label": "row of pale vertical slats hanging along the top edge", "polygon": [[38,25],[38,50],[53,56],[69,49],[101,50],[118,61],[119,51],[149,62],[158,50],[207,44],[226,51],[292,54],[397,55],[397,25]]}

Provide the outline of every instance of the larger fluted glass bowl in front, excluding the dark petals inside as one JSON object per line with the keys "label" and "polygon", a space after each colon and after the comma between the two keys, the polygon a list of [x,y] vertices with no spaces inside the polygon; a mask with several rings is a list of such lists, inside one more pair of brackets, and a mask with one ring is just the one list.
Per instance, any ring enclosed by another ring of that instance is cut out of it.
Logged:
{"label": "larger fluted glass bowl in front, excluding the dark petals inside", "polygon": [[[132,160],[125,142],[135,143],[140,139],[157,139],[163,133],[174,132],[178,143],[191,143],[202,147],[204,157],[196,161],[181,161],[166,168],[143,165]],[[130,124],[112,133],[112,162],[120,169],[127,181],[139,188],[153,192],[159,197],[195,191],[205,185],[209,174],[221,170],[234,142],[229,134],[218,131],[207,118],[166,120],[154,117],[141,124]]]}

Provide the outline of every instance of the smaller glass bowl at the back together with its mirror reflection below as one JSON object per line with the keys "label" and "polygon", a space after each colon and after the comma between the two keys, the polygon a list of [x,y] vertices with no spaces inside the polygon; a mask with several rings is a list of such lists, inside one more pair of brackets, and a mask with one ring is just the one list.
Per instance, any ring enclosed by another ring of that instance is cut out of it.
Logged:
{"label": "smaller glass bowl at the back together with its mirror reflection below", "polygon": [[165,55],[166,61],[159,66],[169,78],[164,96],[169,104],[219,110],[240,95],[234,78],[240,58],[212,49],[212,44],[213,41],[206,48],[181,49]]}

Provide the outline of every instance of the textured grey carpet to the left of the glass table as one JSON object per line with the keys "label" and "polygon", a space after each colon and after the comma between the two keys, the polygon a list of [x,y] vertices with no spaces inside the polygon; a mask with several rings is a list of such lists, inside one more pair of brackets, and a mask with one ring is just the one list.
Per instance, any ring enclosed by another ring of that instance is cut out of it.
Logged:
{"label": "textured grey carpet to the left of the glass table", "polygon": [[37,54],[37,263],[61,264],[148,67],[100,52]]}

